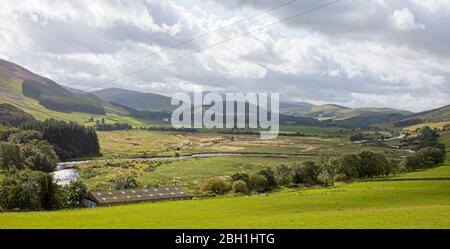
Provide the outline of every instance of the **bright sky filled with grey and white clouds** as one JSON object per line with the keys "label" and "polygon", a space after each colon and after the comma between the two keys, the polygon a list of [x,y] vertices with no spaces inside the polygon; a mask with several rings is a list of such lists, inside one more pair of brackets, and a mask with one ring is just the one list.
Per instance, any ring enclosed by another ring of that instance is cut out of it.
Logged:
{"label": "bright sky filled with grey and white clouds", "polygon": [[330,2],[0,0],[0,58],[87,91],[201,85],[351,107],[450,104],[449,0],[310,11]]}

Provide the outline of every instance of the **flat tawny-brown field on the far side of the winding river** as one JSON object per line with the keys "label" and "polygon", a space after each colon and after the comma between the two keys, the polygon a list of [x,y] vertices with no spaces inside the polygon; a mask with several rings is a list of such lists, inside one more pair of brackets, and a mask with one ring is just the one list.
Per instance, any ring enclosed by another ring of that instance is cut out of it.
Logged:
{"label": "flat tawny-brown field on the far side of the winding river", "polygon": [[143,130],[98,132],[104,158],[191,155],[204,152],[341,155],[372,150],[388,156],[408,153],[389,147],[350,143],[345,138],[286,137],[260,140],[255,135],[173,133]]}

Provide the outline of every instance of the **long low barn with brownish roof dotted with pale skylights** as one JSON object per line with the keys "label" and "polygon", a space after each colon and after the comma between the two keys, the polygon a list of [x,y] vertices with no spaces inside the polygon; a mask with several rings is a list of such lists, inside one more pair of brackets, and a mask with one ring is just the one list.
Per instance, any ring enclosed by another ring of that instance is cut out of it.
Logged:
{"label": "long low barn with brownish roof dotted with pale skylights", "polygon": [[86,207],[111,206],[139,202],[190,200],[193,195],[181,187],[155,187],[90,192],[83,199]]}

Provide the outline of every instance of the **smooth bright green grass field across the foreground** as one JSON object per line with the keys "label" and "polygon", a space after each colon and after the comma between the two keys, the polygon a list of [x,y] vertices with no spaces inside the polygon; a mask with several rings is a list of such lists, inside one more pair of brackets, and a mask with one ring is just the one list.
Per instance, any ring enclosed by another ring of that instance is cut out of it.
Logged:
{"label": "smooth bright green grass field across the foreground", "polygon": [[449,227],[450,181],[365,182],[267,196],[0,213],[0,228]]}

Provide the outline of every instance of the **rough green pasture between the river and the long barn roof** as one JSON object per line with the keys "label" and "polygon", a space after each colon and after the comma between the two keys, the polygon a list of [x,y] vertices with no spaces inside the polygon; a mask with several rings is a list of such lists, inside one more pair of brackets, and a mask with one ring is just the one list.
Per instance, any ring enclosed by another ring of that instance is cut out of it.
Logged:
{"label": "rough green pasture between the river and the long barn roof", "polygon": [[[241,157],[223,156],[211,158],[190,158],[174,161],[117,161],[117,164],[92,162],[80,165],[82,180],[90,190],[111,189],[113,180],[124,174],[136,176],[142,186],[182,185],[196,187],[206,178],[231,176],[236,172],[256,172],[266,167],[292,164],[309,157]],[[126,165],[126,166],[125,166]],[[123,167],[125,166],[125,167]],[[148,170],[151,168],[151,170]]]}

